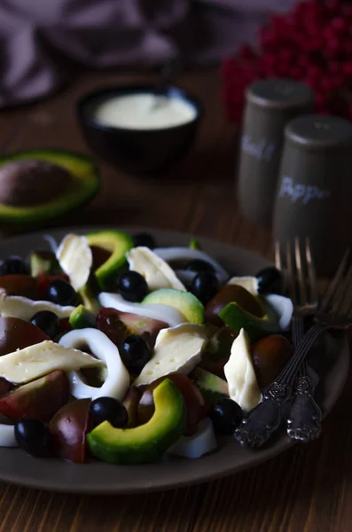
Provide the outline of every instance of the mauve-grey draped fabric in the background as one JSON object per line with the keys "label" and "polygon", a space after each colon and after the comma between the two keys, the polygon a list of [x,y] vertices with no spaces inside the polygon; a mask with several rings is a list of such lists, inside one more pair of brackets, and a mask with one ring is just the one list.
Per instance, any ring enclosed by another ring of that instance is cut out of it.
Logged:
{"label": "mauve-grey draped fabric in the background", "polygon": [[209,64],[295,0],[0,0],[0,108],[50,94],[77,66]]}

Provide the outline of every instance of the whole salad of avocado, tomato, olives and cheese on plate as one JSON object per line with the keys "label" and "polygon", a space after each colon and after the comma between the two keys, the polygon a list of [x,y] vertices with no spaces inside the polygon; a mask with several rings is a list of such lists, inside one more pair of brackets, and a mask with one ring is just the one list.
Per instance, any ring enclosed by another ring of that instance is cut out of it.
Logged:
{"label": "whole salad of avocado, tomato, olives and cheese on plate", "polygon": [[196,239],[46,240],[0,262],[0,446],[121,465],[216,452],[293,353],[280,272],[236,277]]}

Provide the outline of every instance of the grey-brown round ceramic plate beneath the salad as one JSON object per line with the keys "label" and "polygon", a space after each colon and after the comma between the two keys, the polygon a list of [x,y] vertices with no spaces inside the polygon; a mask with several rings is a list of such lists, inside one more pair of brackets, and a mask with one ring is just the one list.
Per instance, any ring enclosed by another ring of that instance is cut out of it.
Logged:
{"label": "grey-brown round ceramic plate beneath the salad", "polygon": [[[97,229],[97,228],[94,228]],[[102,229],[102,228],[101,228]],[[141,228],[122,228],[126,231],[149,231]],[[84,233],[92,228],[51,231],[61,238],[69,231]],[[150,231],[160,246],[187,246],[190,237],[174,231]],[[34,248],[46,247],[43,232],[5,240],[0,247],[1,257],[9,254],[26,256]],[[233,275],[255,274],[270,264],[262,257],[234,246],[199,238],[203,249],[223,263]],[[336,342],[325,349],[323,367],[320,366],[319,395],[325,415],[332,410],[344,385],[348,372],[348,343]],[[91,462],[74,465],[59,459],[40,459],[27,456],[17,449],[0,449],[0,480],[53,491],[113,494],[137,493],[171,489],[201,481],[209,481],[236,473],[273,458],[287,450],[293,442],[285,432],[262,450],[247,450],[231,437],[219,440],[219,447],[208,456],[190,460],[165,458],[151,465],[108,465]]]}

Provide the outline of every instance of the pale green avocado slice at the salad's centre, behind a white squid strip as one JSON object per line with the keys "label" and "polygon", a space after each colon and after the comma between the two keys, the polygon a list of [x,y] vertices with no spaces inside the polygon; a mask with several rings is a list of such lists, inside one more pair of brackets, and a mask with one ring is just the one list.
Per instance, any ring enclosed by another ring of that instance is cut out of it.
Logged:
{"label": "pale green avocado slice at the salad's centre, behind a white squid strip", "polygon": [[148,293],[142,301],[145,304],[168,305],[183,314],[185,321],[191,324],[204,323],[204,307],[191,292],[174,290],[173,288],[160,288]]}

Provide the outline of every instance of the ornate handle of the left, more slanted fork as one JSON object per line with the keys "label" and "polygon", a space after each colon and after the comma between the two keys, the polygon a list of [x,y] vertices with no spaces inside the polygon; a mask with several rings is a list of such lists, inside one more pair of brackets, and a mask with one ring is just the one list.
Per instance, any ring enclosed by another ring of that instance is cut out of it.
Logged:
{"label": "ornate handle of the left, more slanted fork", "polygon": [[264,390],[262,402],[247,414],[236,429],[234,436],[241,445],[262,447],[271,434],[278,430],[283,419],[283,406],[292,399],[293,379],[319,334],[329,326],[313,325],[304,335],[276,382]]}

